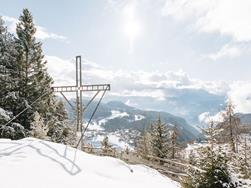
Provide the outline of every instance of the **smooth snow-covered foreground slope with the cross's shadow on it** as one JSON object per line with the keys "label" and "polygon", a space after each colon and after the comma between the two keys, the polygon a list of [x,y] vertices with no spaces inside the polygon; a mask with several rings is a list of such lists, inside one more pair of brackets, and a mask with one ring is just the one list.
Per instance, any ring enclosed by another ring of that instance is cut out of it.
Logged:
{"label": "smooth snow-covered foreground slope with the cross's shadow on it", "polygon": [[146,166],[34,138],[0,139],[0,177],[1,188],[180,187]]}

